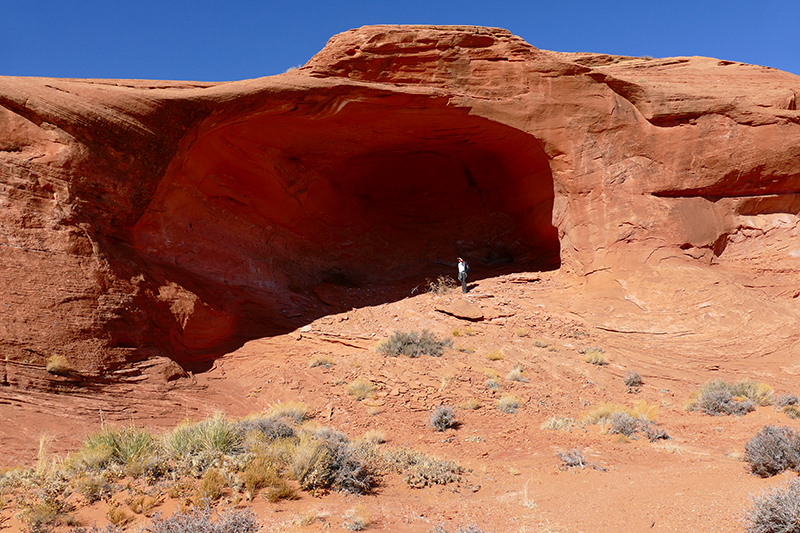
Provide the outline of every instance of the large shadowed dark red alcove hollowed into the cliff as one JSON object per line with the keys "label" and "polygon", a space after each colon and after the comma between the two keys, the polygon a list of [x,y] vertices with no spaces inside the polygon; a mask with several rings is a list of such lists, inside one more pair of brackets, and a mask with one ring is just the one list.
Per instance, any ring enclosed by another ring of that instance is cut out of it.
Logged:
{"label": "large shadowed dark red alcove hollowed into the cliff", "polygon": [[[199,135],[167,178],[136,246],[204,301],[238,306],[249,324],[238,330],[392,298],[365,288],[405,297],[455,277],[459,256],[473,280],[560,262],[547,156],[464,108],[344,101],[251,115]],[[326,287],[359,290],[326,298]]]}

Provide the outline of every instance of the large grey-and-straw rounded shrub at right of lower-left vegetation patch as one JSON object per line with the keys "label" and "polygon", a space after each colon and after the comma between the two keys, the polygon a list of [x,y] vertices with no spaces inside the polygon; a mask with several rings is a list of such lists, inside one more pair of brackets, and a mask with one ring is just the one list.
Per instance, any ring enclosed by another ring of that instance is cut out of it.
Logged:
{"label": "large grey-and-straw rounded shrub at right of lower-left vegetation patch", "polygon": [[290,470],[300,487],[311,491],[367,494],[377,481],[358,447],[332,430],[303,435]]}

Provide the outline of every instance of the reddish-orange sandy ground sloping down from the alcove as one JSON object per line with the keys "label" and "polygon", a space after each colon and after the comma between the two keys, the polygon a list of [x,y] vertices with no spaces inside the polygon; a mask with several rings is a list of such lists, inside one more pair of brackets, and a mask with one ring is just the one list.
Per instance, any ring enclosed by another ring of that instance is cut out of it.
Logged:
{"label": "reddish-orange sandy ground sloping down from the alcove", "polygon": [[[277,504],[257,498],[250,507],[263,531],[343,531],[343,521],[353,513],[369,517],[369,530],[376,531],[428,532],[436,525],[456,530],[471,524],[497,533],[744,531],[752,495],[795,476],[751,475],[741,459],[745,443],[766,424],[800,429],[800,423],[774,407],[737,418],[687,412],[684,404],[702,383],[718,378],[757,379],[776,393],[797,391],[797,367],[786,351],[794,349],[794,341],[775,348],[765,340],[763,345],[772,348],[758,354],[750,348],[758,331],[733,338],[715,335],[698,322],[692,336],[673,328],[673,321],[654,324],[649,332],[620,331],[608,325],[604,306],[615,302],[619,309],[629,300],[589,301],[589,289],[600,294],[558,272],[486,278],[473,282],[467,295],[415,293],[251,341],[169,389],[148,392],[143,386],[134,394],[111,387],[96,398],[64,397],[63,408],[59,399],[42,395],[37,402],[31,393],[27,401],[0,404],[2,462],[33,464],[43,434],[50,436],[54,453],[66,454],[104,416],[105,423],[160,430],[185,418],[215,412],[238,417],[277,401],[301,400],[325,426],[351,437],[381,430],[387,438],[383,446],[410,446],[455,460],[467,473],[459,484],[426,489],[409,488],[389,475],[375,494],[360,497],[302,493],[299,500]],[[480,310],[484,318],[465,320],[437,310],[451,309],[454,302]],[[414,359],[375,350],[394,331],[422,329],[452,339],[453,349],[438,358]],[[579,351],[588,347],[602,348],[608,364],[585,362]],[[487,359],[495,351],[502,359]],[[310,368],[309,361],[319,355],[332,358],[333,366]],[[506,378],[517,365],[527,383]],[[491,371],[499,376],[500,391],[485,385]],[[628,371],[643,378],[638,392],[623,384]],[[346,384],[356,378],[376,385],[375,398],[358,402],[347,395]],[[496,408],[505,394],[519,399],[516,414]],[[432,409],[471,398],[480,408],[459,409],[457,429],[431,429]],[[591,425],[541,429],[553,416],[580,419],[602,402],[633,406],[642,400],[657,407],[655,420],[671,440],[623,439]],[[71,402],[83,402],[81,409],[69,407]],[[556,453],[574,448],[592,466],[561,468]],[[124,501],[124,495],[116,498]],[[107,506],[100,502],[77,515],[103,526]],[[160,510],[170,514],[175,506],[167,500]],[[20,527],[12,509],[2,517],[2,526]],[[142,520],[129,530],[137,530]]]}

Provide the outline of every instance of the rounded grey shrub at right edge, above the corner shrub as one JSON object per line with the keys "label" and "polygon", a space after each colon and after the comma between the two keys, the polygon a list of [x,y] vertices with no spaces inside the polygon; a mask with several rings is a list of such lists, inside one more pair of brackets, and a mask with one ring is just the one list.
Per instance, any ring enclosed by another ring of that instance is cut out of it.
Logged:
{"label": "rounded grey shrub at right edge, above the corner shrub", "polygon": [[760,477],[800,467],[800,434],[788,427],[764,426],[744,450],[750,471]]}

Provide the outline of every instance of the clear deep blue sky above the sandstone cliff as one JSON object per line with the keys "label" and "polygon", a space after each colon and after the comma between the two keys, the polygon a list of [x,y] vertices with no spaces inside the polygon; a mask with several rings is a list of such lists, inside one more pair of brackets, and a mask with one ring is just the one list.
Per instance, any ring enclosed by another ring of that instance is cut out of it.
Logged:
{"label": "clear deep blue sky above the sandstone cliff", "polygon": [[221,81],[366,24],[471,24],[562,52],[711,56],[800,74],[800,0],[0,0],[0,75]]}

